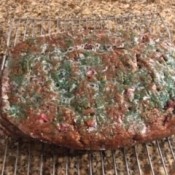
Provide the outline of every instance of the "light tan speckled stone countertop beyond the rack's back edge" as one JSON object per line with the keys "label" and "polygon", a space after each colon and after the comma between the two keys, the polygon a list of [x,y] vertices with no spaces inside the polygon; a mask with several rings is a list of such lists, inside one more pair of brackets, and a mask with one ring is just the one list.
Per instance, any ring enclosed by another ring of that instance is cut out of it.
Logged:
{"label": "light tan speckled stone countertop beyond the rack's back edge", "polygon": [[0,53],[4,52],[8,20],[11,18],[84,18],[92,16],[158,12],[174,34],[174,0],[1,0]]}

